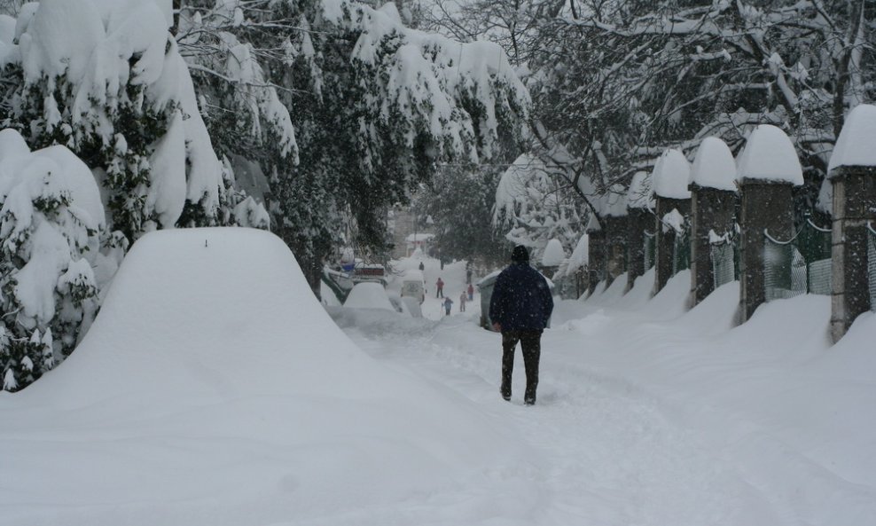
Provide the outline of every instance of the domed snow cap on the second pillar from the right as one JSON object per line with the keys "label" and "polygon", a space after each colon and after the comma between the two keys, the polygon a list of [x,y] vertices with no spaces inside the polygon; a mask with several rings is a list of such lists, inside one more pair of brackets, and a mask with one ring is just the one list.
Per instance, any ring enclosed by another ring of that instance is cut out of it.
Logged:
{"label": "domed snow cap on the second pillar from the right", "polygon": [[757,179],[771,183],[803,184],[800,159],[784,131],[771,124],[761,124],[751,135],[739,156],[739,181]]}

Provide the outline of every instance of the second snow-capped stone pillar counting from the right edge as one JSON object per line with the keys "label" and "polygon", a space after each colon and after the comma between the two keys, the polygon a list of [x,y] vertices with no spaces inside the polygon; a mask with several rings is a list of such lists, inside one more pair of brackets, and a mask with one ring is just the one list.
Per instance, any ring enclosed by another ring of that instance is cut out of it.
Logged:
{"label": "second snow-capped stone pillar counting from the right edge", "polygon": [[761,124],[751,132],[739,156],[737,180],[742,193],[739,320],[745,322],[766,300],[766,232],[781,240],[794,233],[792,190],[803,184],[803,172],[784,131]]}

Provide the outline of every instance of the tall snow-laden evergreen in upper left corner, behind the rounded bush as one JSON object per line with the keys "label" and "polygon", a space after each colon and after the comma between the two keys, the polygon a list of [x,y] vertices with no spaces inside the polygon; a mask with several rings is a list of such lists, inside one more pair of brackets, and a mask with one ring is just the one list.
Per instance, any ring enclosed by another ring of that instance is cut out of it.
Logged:
{"label": "tall snow-laden evergreen in upper left corner, behind the rounded bush", "polygon": [[188,69],[169,39],[169,2],[27,4],[0,66],[13,85],[0,122],[35,148],[66,145],[106,188],[109,230],[213,224],[222,169]]}

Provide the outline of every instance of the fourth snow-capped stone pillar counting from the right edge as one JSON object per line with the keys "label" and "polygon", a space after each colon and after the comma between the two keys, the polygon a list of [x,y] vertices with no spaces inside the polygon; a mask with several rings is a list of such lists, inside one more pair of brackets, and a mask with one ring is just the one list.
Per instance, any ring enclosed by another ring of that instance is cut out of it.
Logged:
{"label": "fourth snow-capped stone pillar counting from the right edge", "polygon": [[679,217],[691,213],[691,192],[687,184],[691,163],[678,150],[663,152],[654,165],[654,194],[657,196],[657,268],[654,294],[659,293],[673,274],[673,256]]}

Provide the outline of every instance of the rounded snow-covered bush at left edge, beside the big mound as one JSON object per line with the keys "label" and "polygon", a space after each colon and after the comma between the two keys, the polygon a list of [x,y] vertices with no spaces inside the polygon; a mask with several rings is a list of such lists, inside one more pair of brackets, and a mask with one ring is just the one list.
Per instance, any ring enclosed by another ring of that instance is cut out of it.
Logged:
{"label": "rounded snow-covered bush at left edge, beside the big mound", "polygon": [[104,208],[90,170],[65,146],[31,153],[0,131],[0,373],[38,379],[73,349],[98,308]]}

